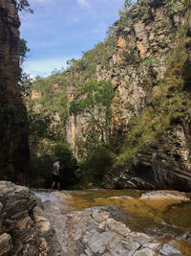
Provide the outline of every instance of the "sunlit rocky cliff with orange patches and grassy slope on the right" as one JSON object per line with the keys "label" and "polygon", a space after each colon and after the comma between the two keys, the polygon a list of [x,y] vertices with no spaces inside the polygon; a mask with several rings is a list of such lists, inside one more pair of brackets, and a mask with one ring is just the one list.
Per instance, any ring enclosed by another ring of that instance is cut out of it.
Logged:
{"label": "sunlit rocky cliff with orange patches and grassy slope on the right", "polygon": [[[110,41],[73,62],[69,101],[83,97],[76,87],[90,79],[111,81],[116,92],[112,135],[122,150],[106,187],[191,189],[190,29],[190,1],[138,1],[121,14]],[[76,153],[87,138],[87,120],[68,118]]]}

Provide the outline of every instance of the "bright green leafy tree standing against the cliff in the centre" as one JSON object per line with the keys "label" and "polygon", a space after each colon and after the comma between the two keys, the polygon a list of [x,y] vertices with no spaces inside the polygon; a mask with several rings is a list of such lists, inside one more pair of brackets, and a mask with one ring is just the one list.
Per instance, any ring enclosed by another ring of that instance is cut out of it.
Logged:
{"label": "bright green leafy tree standing against the cliff in the centre", "polygon": [[112,122],[112,102],[115,96],[112,84],[107,81],[89,81],[78,90],[78,98],[71,102],[70,113],[88,115],[89,137],[109,145]]}

